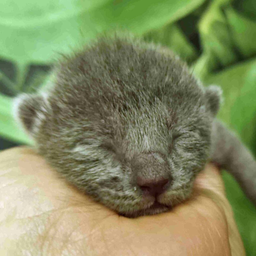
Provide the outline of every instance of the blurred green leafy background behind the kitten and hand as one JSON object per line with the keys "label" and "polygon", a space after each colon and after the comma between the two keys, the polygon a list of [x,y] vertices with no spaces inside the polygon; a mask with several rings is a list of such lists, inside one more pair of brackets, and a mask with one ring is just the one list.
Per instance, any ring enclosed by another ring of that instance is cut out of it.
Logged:
{"label": "blurred green leafy background behind the kitten and hand", "polygon": [[[12,119],[12,98],[44,87],[60,52],[116,28],[169,47],[206,86],[220,85],[218,117],[256,155],[255,0],[2,0],[0,149],[33,144]],[[256,209],[229,174],[223,178],[247,255],[255,256]]]}

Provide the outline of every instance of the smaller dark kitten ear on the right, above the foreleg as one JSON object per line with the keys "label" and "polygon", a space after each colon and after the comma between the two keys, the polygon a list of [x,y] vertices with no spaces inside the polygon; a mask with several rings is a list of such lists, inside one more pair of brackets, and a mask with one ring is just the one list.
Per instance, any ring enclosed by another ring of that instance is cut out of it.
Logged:
{"label": "smaller dark kitten ear on the right, above the foreleg", "polygon": [[222,102],[222,89],[217,85],[210,85],[206,87],[205,97],[208,103],[208,108],[215,116],[218,113]]}

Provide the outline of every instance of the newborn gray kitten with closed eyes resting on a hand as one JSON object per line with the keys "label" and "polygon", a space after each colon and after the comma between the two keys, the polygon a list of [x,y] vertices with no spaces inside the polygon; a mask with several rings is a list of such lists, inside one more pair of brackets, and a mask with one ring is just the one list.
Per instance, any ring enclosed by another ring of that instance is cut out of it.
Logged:
{"label": "newborn gray kitten with closed eyes resting on a hand", "polygon": [[255,160],[215,120],[220,96],[166,48],[115,36],[64,57],[52,88],[21,95],[16,114],[62,176],[136,217],[187,199],[209,161],[256,203]]}

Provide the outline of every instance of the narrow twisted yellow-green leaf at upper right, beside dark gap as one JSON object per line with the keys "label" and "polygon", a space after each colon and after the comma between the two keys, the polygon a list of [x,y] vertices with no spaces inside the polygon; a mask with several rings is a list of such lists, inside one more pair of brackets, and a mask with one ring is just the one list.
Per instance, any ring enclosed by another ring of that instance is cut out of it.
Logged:
{"label": "narrow twisted yellow-green leaf at upper right, beside dark gap", "polygon": [[231,1],[212,1],[199,21],[198,30],[203,54],[195,63],[194,70],[202,79],[212,70],[238,60],[229,26],[222,11],[229,2]]}

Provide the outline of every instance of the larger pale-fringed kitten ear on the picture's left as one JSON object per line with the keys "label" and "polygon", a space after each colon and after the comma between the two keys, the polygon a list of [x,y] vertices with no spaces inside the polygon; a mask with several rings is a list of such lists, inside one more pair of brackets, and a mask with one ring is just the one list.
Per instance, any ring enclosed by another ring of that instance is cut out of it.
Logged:
{"label": "larger pale-fringed kitten ear on the picture's left", "polygon": [[24,93],[14,99],[13,110],[15,119],[33,135],[45,118],[46,99],[43,95]]}

